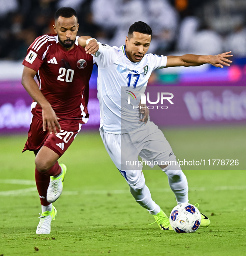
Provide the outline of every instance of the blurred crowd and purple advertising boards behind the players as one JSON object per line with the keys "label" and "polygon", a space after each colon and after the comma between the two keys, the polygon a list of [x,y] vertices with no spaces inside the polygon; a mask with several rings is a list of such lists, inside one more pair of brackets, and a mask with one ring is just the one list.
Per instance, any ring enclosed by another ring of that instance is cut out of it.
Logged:
{"label": "blurred crowd and purple advertising boards behind the players", "polygon": [[[0,6],[0,134],[28,130],[32,99],[21,85],[21,63],[37,36],[53,33],[54,13],[61,6],[77,11],[78,35],[91,35],[111,46],[121,46],[129,25],[143,20],[154,33],[149,52],[181,55],[232,51],[234,63],[229,68],[203,65],[162,69],[151,76],[149,86],[182,86],[179,102],[185,111],[183,119],[159,121],[161,126],[246,121],[244,0],[0,0]],[[99,127],[96,79],[94,66],[90,119],[84,129]]]}

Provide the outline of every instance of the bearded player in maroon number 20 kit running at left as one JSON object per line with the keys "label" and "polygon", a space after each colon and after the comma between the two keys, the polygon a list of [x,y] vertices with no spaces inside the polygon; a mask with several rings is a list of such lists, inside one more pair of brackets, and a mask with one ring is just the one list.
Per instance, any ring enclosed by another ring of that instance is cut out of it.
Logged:
{"label": "bearded player in maroon number 20 kit running at left", "polygon": [[[77,14],[55,12],[56,34],[38,37],[23,61],[22,85],[32,99],[32,122],[24,150],[35,153],[35,180],[42,205],[37,234],[49,234],[67,167],[64,154],[89,117],[87,103],[93,58],[78,44]],[[39,86],[34,77],[37,76]]]}

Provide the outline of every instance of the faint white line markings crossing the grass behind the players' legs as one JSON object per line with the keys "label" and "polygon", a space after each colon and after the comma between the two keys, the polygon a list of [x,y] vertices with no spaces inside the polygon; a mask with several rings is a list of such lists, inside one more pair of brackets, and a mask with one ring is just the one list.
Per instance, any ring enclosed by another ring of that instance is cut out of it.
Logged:
{"label": "faint white line markings crossing the grass behind the players' legs", "polygon": [[[0,183],[4,184],[18,184],[18,185],[35,185],[35,181],[33,180],[0,180]],[[195,191],[206,191],[206,190],[214,190],[214,191],[224,191],[224,190],[246,190],[246,186],[220,186],[214,188],[206,188],[206,187],[199,187],[199,188],[189,188],[190,192]],[[159,189],[152,189],[152,192],[163,192],[169,193],[172,192],[170,188],[159,188]],[[37,193],[37,188],[25,188],[25,189],[18,189],[18,190],[8,190],[8,191],[1,191],[0,196],[27,196],[27,195],[34,195]],[[107,194],[128,194],[129,189],[127,190],[82,190],[82,191],[63,191],[62,195],[107,195]]]}

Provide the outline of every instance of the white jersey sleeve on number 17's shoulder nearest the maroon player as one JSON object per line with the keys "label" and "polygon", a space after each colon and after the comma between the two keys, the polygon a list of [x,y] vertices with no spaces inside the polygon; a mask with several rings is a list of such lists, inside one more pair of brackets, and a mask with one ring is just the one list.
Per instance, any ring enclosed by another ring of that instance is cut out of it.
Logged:
{"label": "white jersey sleeve on number 17's shoulder nearest the maroon player", "polygon": [[98,51],[93,55],[99,68],[107,68],[119,58],[119,52],[116,48],[107,44],[99,43]]}

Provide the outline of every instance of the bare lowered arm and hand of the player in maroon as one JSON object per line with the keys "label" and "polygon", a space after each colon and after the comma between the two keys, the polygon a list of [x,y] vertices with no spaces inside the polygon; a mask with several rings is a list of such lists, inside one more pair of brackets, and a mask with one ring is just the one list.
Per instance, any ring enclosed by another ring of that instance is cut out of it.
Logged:
{"label": "bare lowered arm and hand of the player in maroon", "polygon": [[37,72],[31,68],[24,66],[22,74],[22,85],[28,92],[28,94],[34,99],[37,104],[42,107],[42,117],[43,117],[43,130],[46,130],[46,125],[48,126],[50,134],[52,130],[57,134],[56,127],[61,130],[60,124],[58,122],[58,117],[56,116],[54,110],[52,109],[50,103],[45,99],[42,92],[37,86],[36,81],[34,80]]}

